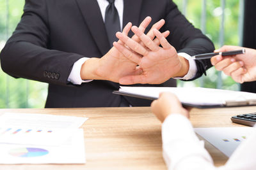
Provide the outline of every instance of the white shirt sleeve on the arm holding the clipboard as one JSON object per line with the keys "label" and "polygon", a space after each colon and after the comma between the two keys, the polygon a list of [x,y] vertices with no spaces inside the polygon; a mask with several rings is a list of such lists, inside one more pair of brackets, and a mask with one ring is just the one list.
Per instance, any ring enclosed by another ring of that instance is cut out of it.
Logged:
{"label": "white shirt sleeve on the arm holding the clipboard", "polygon": [[197,138],[188,118],[172,114],[162,125],[163,157],[170,170],[214,169],[204,143]]}

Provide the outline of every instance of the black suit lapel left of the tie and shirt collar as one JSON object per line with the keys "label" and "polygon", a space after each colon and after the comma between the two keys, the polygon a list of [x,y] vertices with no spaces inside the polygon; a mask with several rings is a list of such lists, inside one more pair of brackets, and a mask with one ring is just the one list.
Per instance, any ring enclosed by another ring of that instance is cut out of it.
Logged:
{"label": "black suit lapel left of the tie and shirt collar", "polygon": [[109,49],[108,35],[96,0],[76,0],[84,20],[102,55]]}

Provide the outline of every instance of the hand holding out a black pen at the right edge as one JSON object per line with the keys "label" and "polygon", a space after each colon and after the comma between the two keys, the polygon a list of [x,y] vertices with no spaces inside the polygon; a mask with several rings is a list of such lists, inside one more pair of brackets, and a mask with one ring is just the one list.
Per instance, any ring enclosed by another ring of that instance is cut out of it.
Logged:
{"label": "hand holding out a black pen at the right edge", "polygon": [[[240,50],[241,46],[222,46],[215,52],[226,52],[230,50]],[[216,55],[211,58],[211,63],[218,71],[231,76],[232,79],[238,83],[244,81],[256,80],[256,50],[252,48],[244,48],[245,54],[234,55],[230,57],[223,57]]]}

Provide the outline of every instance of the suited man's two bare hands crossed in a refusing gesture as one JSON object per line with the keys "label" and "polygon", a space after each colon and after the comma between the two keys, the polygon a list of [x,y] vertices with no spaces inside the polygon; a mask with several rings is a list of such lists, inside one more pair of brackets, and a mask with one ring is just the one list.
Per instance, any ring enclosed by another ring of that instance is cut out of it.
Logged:
{"label": "suited man's two bare hands crossed in a refusing gesture", "polygon": [[[170,32],[159,32],[164,20],[159,20],[144,34],[150,22],[151,18],[146,17],[139,27],[131,23],[125,25],[123,32],[116,33],[120,40],[113,43],[106,55],[84,62],[80,73],[82,80],[109,80],[125,85],[156,84],[188,73],[188,60],[179,57],[166,40]],[[127,36],[130,30],[134,32],[132,38]]]}

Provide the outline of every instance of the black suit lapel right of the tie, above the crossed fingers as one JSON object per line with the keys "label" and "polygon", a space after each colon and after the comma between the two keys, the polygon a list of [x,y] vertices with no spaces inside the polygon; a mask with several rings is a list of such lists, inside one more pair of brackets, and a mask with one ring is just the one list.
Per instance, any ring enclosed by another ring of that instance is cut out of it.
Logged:
{"label": "black suit lapel right of the tie, above the crossed fingers", "polygon": [[[123,25],[125,26],[128,22],[132,25],[139,26],[140,24],[140,10],[143,0],[124,0],[124,17]],[[123,26],[123,27],[124,27]],[[132,36],[132,32],[129,32],[129,36]]]}

